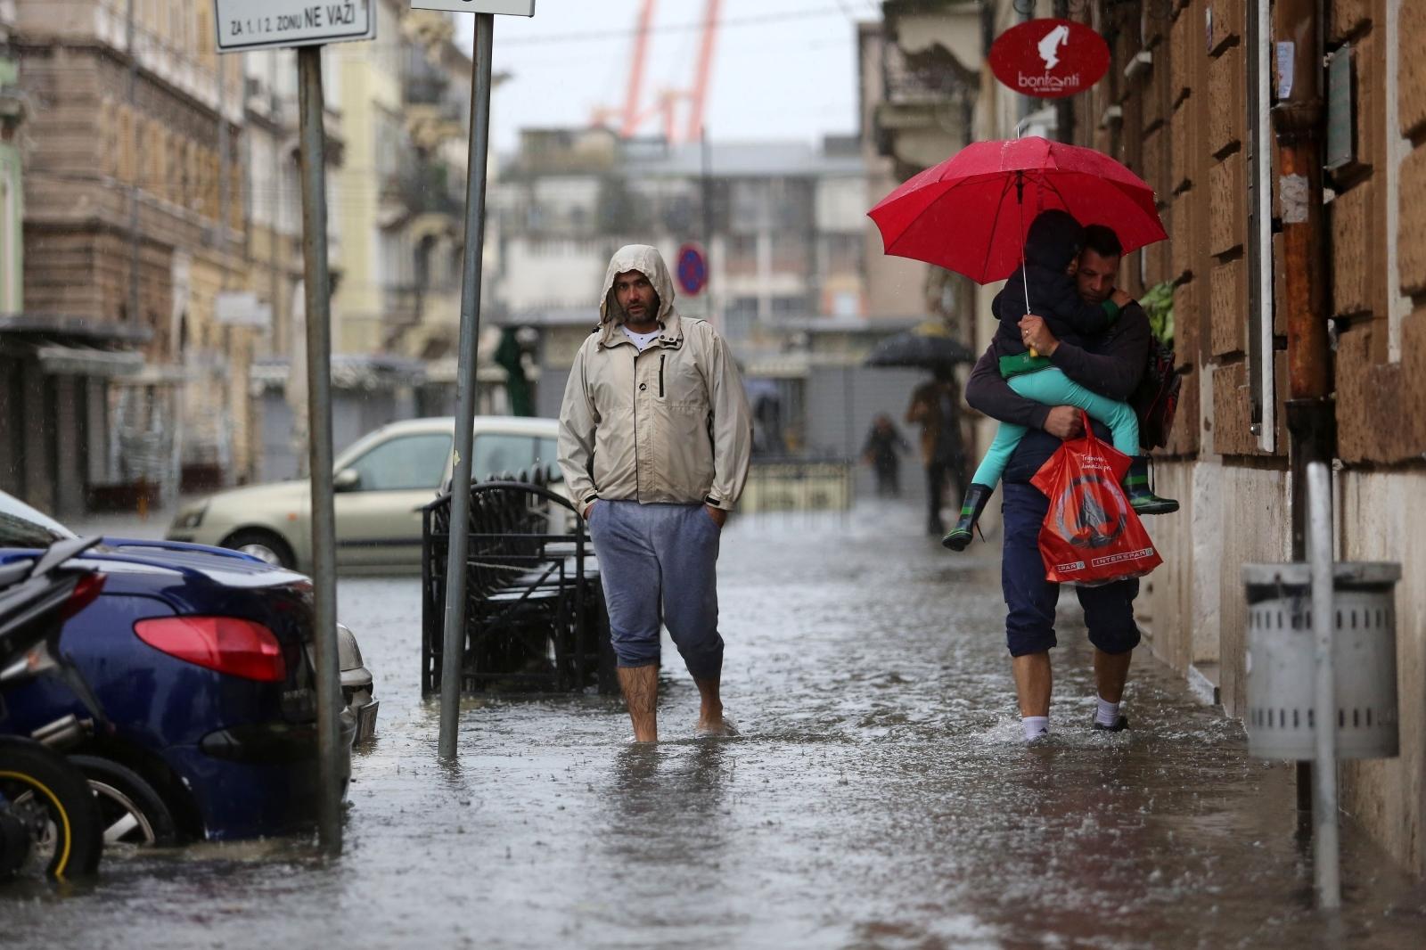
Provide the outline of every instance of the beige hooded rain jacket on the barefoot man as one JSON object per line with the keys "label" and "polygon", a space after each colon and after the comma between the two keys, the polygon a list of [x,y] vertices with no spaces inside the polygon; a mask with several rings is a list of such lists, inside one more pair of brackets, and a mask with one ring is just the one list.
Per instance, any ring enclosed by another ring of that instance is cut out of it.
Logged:
{"label": "beige hooded rain jacket on the barefoot man", "polygon": [[[643,352],[620,330],[615,275],[639,271],[659,294],[663,332]],[[673,308],[659,251],[629,244],[609,261],[599,328],[579,348],[559,411],[559,466],[569,496],[704,502],[730,511],[743,494],[752,412],[733,355],[702,320]]]}

